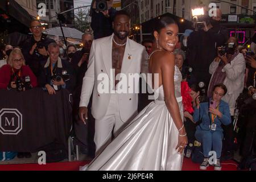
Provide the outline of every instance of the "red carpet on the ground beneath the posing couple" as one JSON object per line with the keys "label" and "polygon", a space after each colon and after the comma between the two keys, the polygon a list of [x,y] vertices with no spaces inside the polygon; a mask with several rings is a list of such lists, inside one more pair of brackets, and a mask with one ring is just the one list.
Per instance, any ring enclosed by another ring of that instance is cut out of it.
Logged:
{"label": "red carpet on the ground beneath the posing couple", "polygon": [[[0,165],[0,171],[78,171],[80,166],[84,166],[88,163],[89,161],[48,163],[46,165],[9,164]],[[228,160],[221,164],[222,171],[237,171],[237,163],[233,162],[233,160]],[[184,158],[183,171],[200,171],[199,166],[200,164],[193,163],[191,159]],[[207,171],[214,171],[214,167],[208,167]]]}

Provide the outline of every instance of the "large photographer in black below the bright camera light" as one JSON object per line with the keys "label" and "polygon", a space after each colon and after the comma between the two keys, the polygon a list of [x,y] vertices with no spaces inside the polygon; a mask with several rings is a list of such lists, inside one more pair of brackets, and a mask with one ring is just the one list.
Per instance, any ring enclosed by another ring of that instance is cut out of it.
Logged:
{"label": "large photographer in black below the bright camera light", "polygon": [[222,12],[217,9],[217,15],[203,16],[201,27],[191,33],[188,38],[187,60],[193,68],[195,77],[203,81],[208,87],[210,75],[208,69],[211,61],[216,57],[216,47],[222,46],[228,40],[227,28],[220,26]]}

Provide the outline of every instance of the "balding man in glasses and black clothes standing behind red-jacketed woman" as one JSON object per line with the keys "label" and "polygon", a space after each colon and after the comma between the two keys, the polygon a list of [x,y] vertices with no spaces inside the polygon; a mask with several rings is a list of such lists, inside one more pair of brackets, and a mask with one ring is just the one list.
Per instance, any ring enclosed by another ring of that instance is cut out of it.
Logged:
{"label": "balding man in glasses and black clothes standing behind red-jacketed woman", "polygon": [[30,23],[32,37],[23,44],[22,52],[26,59],[26,64],[31,68],[36,77],[39,76],[40,68],[46,63],[48,58],[47,46],[55,40],[47,38],[42,34],[43,27],[39,20],[32,20]]}

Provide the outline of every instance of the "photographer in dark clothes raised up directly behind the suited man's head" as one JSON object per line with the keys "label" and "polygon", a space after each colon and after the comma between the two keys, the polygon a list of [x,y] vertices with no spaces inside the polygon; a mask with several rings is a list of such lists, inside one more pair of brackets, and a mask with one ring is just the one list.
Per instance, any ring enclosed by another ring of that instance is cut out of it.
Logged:
{"label": "photographer in dark clothes raised up directly behind the suited man's head", "polygon": [[[113,0],[101,1],[105,2],[106,9],[97,7],[97,0],[92,1],[90,8],[90,16],[92,16],[92,27],[94,39],[104,38],[113,34],[113,18],[116,10],[112,7]],[[105,7],[101,6],[101,7]]]}

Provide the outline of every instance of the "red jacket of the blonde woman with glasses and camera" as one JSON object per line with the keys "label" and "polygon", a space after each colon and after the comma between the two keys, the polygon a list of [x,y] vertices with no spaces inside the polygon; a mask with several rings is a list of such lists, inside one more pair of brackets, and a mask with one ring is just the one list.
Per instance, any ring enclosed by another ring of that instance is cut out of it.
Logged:
{"label": "red jacket of the blonde woman with glasses and camera", "polygon": [[[9,85],[11,81],[11,77],[14,75],[14,72],[19,72],[18,70],[11,68],[9,64],[3,65],[2,68],[0,68],[0,89],[7,89],[7,86]],[[36,76],[31,71],[30,67],[27,65],[23,65],[22,68],[20,68],[20,77],[24,76],[30,76],[31,85],[33,87],[38,86],[38,81],[36,79]]]}

